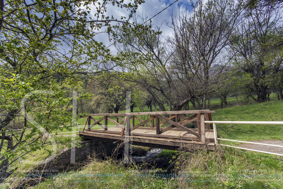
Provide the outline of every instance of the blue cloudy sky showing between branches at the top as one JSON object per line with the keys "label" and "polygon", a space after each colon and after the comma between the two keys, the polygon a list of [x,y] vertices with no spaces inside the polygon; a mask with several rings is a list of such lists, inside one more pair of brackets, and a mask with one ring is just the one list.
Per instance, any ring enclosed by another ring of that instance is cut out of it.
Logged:
{"label": "blue cloudy sky showing between branches at the top", "polygon": [[[156,15],[158,12],[162,11],[164,8],[175,2],[176,0],[145,0],[145,2],[141,5],[139,5],[136,15],[147,17],[148,19],[152,16]],[[125,1],[127,2],[127,1]],[[160,26],[161,24],[161,31],[164,36],[170,35],[173,31],[172,28],[168,27],[168,25],[171,25],[171,14],[176,14],[179,11],[179,6],[182,10],[185,10],[187,7],[189,10],[191,10],[191,2],[190,0],[179,0],[175,2],[172,6],[167,8],[166,10],[162,11],[160,14],[155,16],[152,19],[152,23],[156,24],[157,26]],[[95,11],[95,10],[94,10]],[[95,13],[93,11],[93,14]],[[129,12],[127,10],[122,10],[120,8],[117,8],[116,6],[109,5],[107,6],[107,14],[106,15],[113,15],[114,18],[119,19],[121,16],[126,16],[128,18]],[[141,23],[143,23],[142,20],[140,20]],[[112,24],[115,24],[114,22]],[[108,35],[105,33],[99,34],[97,36],[97,41],[103,42],[104,45],[108,46],[113,43],[109,41]],[[114,45],[111,45],[109,47],[112,53],[116,53],[117,50],[115,49]]]}

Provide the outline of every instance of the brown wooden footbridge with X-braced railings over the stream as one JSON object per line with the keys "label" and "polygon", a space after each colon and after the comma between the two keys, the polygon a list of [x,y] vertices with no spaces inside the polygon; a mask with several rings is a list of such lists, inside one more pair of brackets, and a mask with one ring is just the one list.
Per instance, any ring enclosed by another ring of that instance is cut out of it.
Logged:
{"label": "brown wooden footbridge with X-braced railings over the stream", "polygon": [[[118,141],[154,148],[207,148],[214,150],[210,110],[89,114],[79,135],[88,139]],[[94,118],[96,117],[96,119]],[[99,117],[99,118],[98,118]],[[121,118],[123,117],[123,118]],[[141,118],[146,120],[143,120]],[[104,121],[104,123],[102,123]],[[109,122],[114,127],[108,127]],[[194,123],[197,128],[188,128]],[[101,129],[92,129],[99,125]],[[146,127],[145,127],[146,126]]]}

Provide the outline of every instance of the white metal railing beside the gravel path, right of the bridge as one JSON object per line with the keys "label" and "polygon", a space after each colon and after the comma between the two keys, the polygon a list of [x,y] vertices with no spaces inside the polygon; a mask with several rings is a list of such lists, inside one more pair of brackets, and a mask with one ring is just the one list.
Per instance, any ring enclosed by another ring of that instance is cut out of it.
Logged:
{"label": "white metal railing beside the gravel path, right of the bridge", "polygon": [[249,148],[241,148],[241,147],[237,147],[237,146],[218,144],[218,140],[227,140],[227,141],[233,141],[233,142],[241,142],[241,143],[248,143],[248,144],[260,144],[260,145],[265,145],[265,146],[274,146],[274,147],[283,148],[283,146],[281,146],[281,145],[263,144],[263,143],[256,143],[256,142],[248,142],[248,141],[240,141],[240,140],[230,140],[230,139],[217,138],[217,130],[216,130],[216,123],[218,123],[218,124],[283,125],[282,121],[204,121],[204,123],[213,123],[213,132],[214,132],[215,145],[221,145],[221,146],[227,146],[227,147],[232,147],[232,148],[239,148],[239,149],[244,149],[244,150],[250,150],[250,151],[254,151],[254,152],[262,152],[262,153],[268,153],[268,154],[283,156],[283,154],[279,154],[279,153],[265,152],[265,151],[254,150],[254,149],[249,149]]}

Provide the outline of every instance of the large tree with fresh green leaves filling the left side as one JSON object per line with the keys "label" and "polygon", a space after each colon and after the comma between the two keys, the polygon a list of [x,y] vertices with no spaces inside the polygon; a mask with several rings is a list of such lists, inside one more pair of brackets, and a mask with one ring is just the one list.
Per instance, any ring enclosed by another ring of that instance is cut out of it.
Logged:
{"label": "large tree with fresh green leaves filling the left side", "polygon": [[[95,36],[110,33],[111,21],[127,23],[128,19],[106,16],[106,6],[127,9],[131,16],[142,2],[0,1],[1,181],[13,172],[9,165],[19,157],[52,144],[44,134],[71,122],[70,113],[65,111],[71,99],[60,84],[74,85],[116,66],[118,61]],[[91,10],[96,11],[92,18]],[[38,90],[48,94],[34,92]],[[30,96],[25,96],[27,93]],[[46,132],[42,133],[35,122],[26,123],[22,131],[9,126],[21,114],[21,99],[25,99],[27,114],[34,116]],[[48,156],[50,149],[46,151]]]}

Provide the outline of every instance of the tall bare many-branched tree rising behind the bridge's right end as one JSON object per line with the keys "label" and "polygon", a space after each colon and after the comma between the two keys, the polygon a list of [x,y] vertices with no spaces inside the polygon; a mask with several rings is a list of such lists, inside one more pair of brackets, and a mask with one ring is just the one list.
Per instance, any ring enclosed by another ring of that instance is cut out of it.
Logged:
{"label": "tall bare many-branched tree rising behind the bridge's right end", "polygon": [[224,54],[242,16],[241,6],[230,0],[197,1],[193,8],[172,16],[173,74],[184,84],[187,96],[175,110],[195,97],[202,97],[202,108],[206,108],[206,95],[230,77]]}

